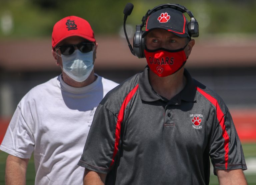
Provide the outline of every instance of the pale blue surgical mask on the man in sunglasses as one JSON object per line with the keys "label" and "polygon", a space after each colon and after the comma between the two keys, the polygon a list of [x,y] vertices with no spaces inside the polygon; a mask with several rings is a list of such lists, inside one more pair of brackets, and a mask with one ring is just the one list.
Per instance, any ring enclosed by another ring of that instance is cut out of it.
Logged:
{"label": "pale blue surgical mask on the man in sunglasses", "polygon": [[77,82],[85,81],[93,70],[93,50],[82,53],[76,49],[71,55],[61,54],[63,72]]}

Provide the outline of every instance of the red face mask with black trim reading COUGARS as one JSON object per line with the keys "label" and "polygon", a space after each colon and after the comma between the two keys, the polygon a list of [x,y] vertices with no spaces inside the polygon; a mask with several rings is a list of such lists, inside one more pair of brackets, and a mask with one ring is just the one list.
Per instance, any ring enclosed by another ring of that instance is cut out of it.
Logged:
{"label": "red face mask with black trim reading COUGARS", "polygon": [[187,57],[184,48],[177,50],[146,48],[144,53],[149,68],[159,77],[164,77],[177,72],[186,63]]}

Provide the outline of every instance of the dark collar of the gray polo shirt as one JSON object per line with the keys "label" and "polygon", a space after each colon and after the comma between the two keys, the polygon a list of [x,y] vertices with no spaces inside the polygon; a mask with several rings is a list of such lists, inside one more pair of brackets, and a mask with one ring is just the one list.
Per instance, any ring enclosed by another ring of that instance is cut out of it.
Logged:
{"label": "dark collar of the gray polo shirt", "polygon": [[[164,100],[165,98],[158,95],[154,91],[152,86],[150,85],[148,73],[149,73],[149,67],[146,66],[144,71],[140,74],[139,92],[140,92],[141,99],[144,101],[147,101],[147,102],[153,102],[153,101],[157,101],[160,99]],[[173,98],[176,99],[176,101],[178,98],[179,99],[178,102],[181,102],[181,100],[187,101],[187,102],[194,102],[194,101],[196,101],[195,84],[193,82],[193,79],[191,78],[191,75],[189,74],[189,72],[186,69],[184,70],[184,75],[187,79],[187,84],[184,87],[184,89]],[[172,101],[172,100],[170,100],[170,101]]]}

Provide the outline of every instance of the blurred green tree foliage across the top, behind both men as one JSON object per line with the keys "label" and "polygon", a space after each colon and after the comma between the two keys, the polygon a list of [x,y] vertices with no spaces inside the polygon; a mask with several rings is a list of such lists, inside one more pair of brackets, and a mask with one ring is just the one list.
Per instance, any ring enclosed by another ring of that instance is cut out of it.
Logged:
{"label": "blurred green tree foliage across the top, behind both men", "polygon": [[[63,17],[76,15],[91,24],[96,34],[117,34],[123,25],[126,3],[134,4],[127,24],[141,24],[148,9],[164,0],[0,0],[0,37],[51,37],[53,25]],[[199,22],[200,35],[256,33],[255,0],[175,0],[185,5]]]}

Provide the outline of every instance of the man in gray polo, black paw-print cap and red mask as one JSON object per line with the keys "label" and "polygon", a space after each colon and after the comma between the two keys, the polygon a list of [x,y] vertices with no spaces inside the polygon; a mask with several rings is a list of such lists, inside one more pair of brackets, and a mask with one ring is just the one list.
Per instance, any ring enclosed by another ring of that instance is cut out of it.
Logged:
{"label": "man in gray polo, black paw-print cap and red mask", "polygon": [[184,68],[197,22],[175,8],[146,16],[148,65],[99,104],[78,163],[84,184],[209,184],[209,156],[220,184],[246,184],[228,108]]}

